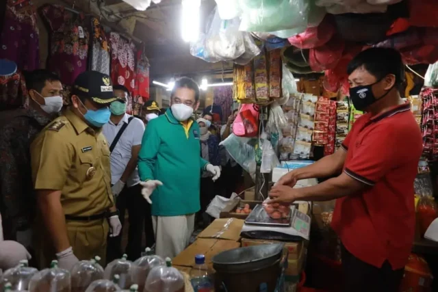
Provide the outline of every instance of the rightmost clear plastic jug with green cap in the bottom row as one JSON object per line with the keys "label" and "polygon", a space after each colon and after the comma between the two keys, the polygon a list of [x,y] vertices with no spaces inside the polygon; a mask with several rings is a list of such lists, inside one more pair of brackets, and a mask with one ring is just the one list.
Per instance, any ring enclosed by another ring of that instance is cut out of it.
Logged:
{"label": "rightmost clear plastic jug with green cap in the bottom row", "polygon": [[172,267],[170,258],[166,258],[166,267],[154,267],[149,273],[143,292],[184,292],[183,275]]}

